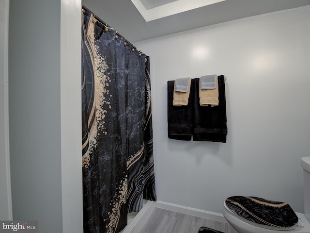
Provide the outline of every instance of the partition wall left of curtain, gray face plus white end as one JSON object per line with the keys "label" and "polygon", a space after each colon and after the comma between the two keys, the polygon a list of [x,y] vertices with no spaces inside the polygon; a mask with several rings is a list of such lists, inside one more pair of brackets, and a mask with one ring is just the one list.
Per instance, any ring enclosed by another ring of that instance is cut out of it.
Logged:
{"label": "partition wall left of curtain, gray face plus white end", "polygon": [[9,19],[13,218],[82,233],[81,2],[11,0]]}

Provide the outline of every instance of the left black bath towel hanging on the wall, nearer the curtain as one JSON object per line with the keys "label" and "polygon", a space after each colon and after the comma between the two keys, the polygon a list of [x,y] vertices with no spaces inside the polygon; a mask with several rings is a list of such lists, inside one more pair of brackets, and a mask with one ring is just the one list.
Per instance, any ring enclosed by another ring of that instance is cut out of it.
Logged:
{"label": "left black bath towel hanging on the wall, nearer the curtain", "polygon": [[[193,81],[192,81],[193,82]],[[168,137],[190,141],[193,133],[193,86],[190,87],[187,106],[173,106],[174,81],[168,81]]]}

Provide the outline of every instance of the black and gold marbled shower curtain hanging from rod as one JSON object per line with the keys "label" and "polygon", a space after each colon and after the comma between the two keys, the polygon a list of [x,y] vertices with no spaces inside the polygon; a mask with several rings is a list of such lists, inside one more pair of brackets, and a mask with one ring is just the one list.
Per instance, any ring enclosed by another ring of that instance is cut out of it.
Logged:
{"label": "black and gold marbled shower curtain hanging from rod", "polygon": [[84,233],[117,233],[156,200],[149,59],[82,13]]}

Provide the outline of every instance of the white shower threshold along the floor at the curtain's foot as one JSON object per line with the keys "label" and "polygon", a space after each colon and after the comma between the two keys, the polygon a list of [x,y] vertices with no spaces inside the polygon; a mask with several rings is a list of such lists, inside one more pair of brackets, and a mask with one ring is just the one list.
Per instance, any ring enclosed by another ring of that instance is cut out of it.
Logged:
{"label": "white shower threshold along the floor at the curtain's foot", "polygon": [[156,208],[154,201],[148,200],[143,204],[142,209],[138,214],[132,219],[132,221],[126,226],[122,233],[140,233],[144,224],[147,222],[149,217],[152,215]]}

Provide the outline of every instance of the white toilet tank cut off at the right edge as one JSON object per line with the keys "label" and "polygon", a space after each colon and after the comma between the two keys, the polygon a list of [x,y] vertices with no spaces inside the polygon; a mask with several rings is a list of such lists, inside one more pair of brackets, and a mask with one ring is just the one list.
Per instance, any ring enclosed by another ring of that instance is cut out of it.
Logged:
{"label": "white toilet tank cut off at the right edge", "polygon": [[310,156],[301,158],[300,165],[304,169],[304,208],[310,220]]}

